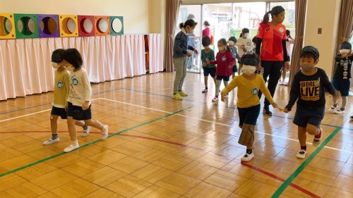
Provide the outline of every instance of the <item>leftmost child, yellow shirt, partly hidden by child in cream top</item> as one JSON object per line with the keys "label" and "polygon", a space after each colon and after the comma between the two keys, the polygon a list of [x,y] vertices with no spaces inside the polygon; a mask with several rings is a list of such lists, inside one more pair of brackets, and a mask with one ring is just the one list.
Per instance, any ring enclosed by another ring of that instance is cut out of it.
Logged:
{"label": "leftmost child, yellow shirt, partly hidden by child in cream top", "polygon": [[[56,49],[52,53],[52,67],[57,69],[55,71],[55,84],[54,84],[54,101],[52,102],[52,113],[50,113],[50,127],[52,129],[52,138],[43,142],[43,145],[53,144],[59,142],[57,134],[59,116],[61,119],[67,119],[67,97],[68,97],[68,71],[62,64],[64,57],[64,49]],[[82,137],[86,137],[90,132],[90,126],[85,125],[83,121],[76,121],[76,125],[83,127]]]}

